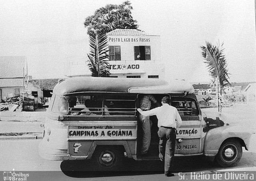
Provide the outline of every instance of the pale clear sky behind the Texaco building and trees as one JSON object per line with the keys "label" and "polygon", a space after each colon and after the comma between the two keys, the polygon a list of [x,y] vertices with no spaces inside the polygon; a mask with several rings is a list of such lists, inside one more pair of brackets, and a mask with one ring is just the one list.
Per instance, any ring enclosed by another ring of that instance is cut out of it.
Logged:
{"label": "pale clear sky behind the Texaco building and trees", "polygon": [[[87,60],[84,19],[124,0],[0,0],[0,56],[26,56],[32,78]],[[200,46],[224,42],[230,82],[256,81],[254,0],[130,0],[139,29],[161,36],[165,77],[210,82]]]}

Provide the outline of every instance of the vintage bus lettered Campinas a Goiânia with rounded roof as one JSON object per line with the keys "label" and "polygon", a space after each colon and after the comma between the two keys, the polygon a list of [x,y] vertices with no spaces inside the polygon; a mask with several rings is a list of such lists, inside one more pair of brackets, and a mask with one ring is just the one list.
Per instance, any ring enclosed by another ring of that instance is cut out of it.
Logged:
{"label": "vintage bus lettered Campinas a Goi\u00e2nia with rounded roof", "polygon": [[[182,125],[176,130],[175,156],[205,155],[230,167],[248,150],[251,133],[202,114],[194,88],[183,80],[74,77],[59,81],[47,109],[41,157],[93,159],[99,170],[114,170],[124,157],[157,160],[157,118],[152,120],[147,155],[140,155],[142,127],[137,107],[143,95],[158,102],[170,97]],[[154,107],[152,107],[154,108]]]}

